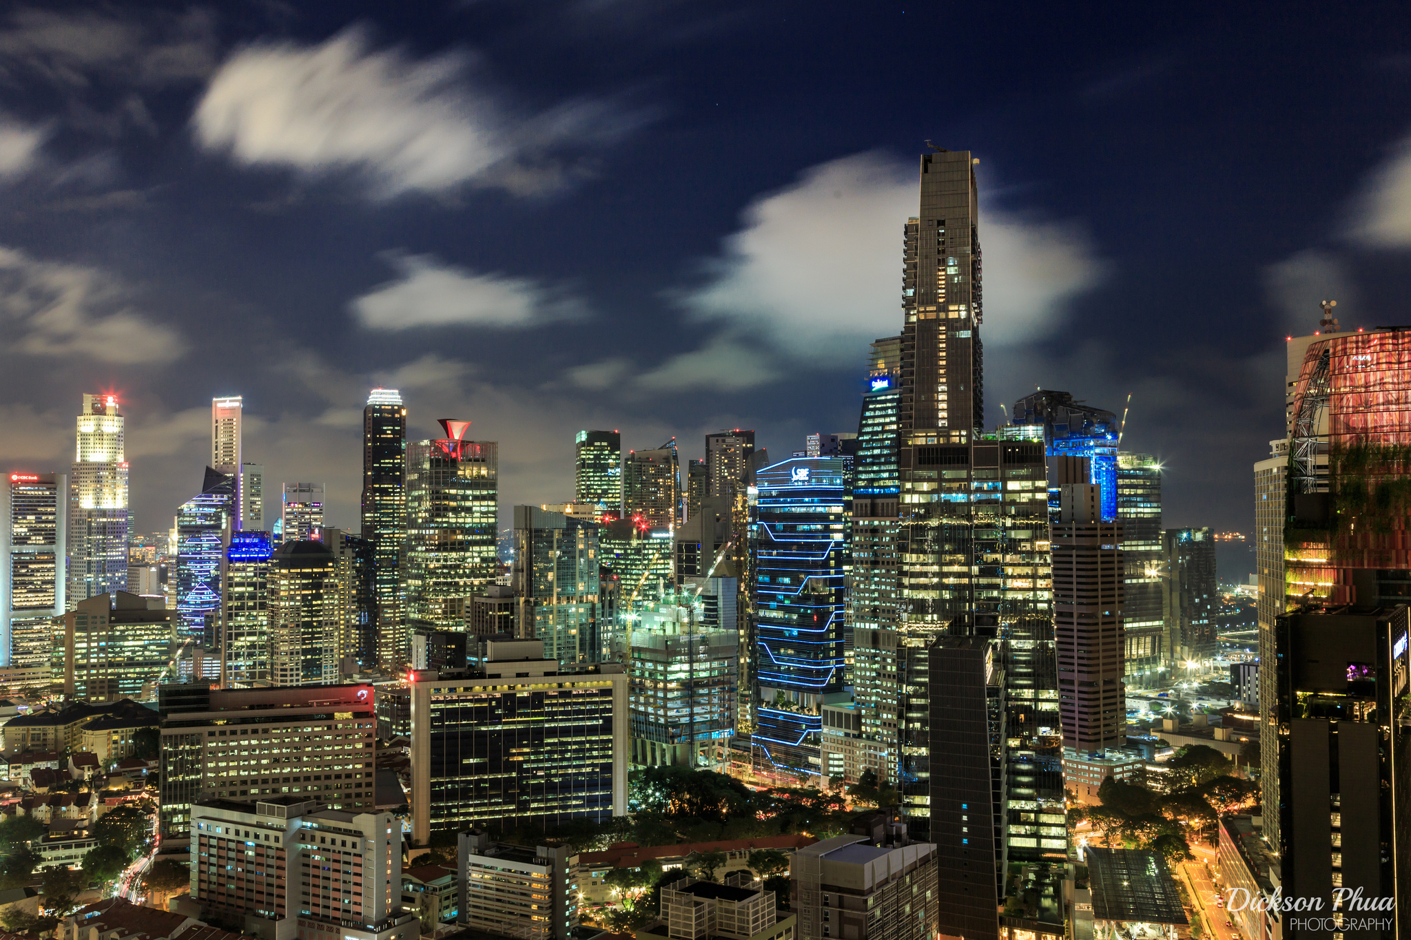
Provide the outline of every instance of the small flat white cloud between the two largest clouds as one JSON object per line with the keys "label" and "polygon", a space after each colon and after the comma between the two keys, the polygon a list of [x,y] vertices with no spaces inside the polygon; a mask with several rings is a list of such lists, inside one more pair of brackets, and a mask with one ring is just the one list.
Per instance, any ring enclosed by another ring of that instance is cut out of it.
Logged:
{"label": "small flat white cloud between the two largest clouds", "polygon": [[581,317],[581,302],[528,278],[477,273],[430,255],[389,255],[401,278],[351,303],[370,330],[484,326],[531,327]]}

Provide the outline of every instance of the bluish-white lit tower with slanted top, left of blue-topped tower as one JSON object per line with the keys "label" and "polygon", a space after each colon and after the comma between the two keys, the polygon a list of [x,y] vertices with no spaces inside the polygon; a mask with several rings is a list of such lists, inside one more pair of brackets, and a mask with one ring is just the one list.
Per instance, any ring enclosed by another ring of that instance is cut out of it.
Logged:
{"label": "bluish-white lit tower with slanted top, left of blue-topped tower", "polygon": [[234,505],[234,478],[207,466],[200,493],[176,510],[176,610],[182,631],[206,645],[220,619],[222,536]]}

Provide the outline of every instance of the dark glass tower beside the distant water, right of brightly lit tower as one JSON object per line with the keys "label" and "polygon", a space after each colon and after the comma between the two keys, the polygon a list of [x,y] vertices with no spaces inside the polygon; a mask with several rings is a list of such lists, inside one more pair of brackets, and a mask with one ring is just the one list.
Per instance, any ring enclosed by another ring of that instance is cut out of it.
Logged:
{"label": "dark glass tower beside the distant water, right of brightly lit tower", "polygon": [[1187,662],[1208,660],[1219,650],[1215,627],[1221,603],[1215,569],[1215,533],[1204,528],[1167,528],[1165,565],[1161,572],[1163,616],[1170,657],[1167,668],[1184,678]]}

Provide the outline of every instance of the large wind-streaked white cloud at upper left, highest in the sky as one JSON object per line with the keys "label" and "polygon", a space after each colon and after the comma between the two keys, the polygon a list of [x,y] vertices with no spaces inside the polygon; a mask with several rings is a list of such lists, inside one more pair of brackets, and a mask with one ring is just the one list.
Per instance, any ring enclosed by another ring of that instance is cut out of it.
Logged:
{"label": "large wind-streaked white cloud at upper left, highest in the sky", "polygon": [[526,161],[559,144],[581,151],[641,120],[593,100],[516,118],[466,73],[463,55],[416,61],[371,51],[360,30],[317,47],[255,45],[212,79],[193,117],[196,137],[246,165],[361,172],[384,196],[466,183],[542,192],[562,172]]}

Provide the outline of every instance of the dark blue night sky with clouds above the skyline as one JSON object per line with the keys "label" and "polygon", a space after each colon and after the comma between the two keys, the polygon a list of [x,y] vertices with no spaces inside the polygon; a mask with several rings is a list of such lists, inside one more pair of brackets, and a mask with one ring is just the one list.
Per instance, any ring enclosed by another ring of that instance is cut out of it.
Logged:
{"label": "dark blue night sky with clouds above the skyline", "polygon": [[[394,7],[389,13],[388,7]],[[855,431],[900,331],[926,140],[981,159],[991,424],[1036,386],[1163,458],[1165,524],[1253,528],[1284,337],[1411,323],[1400,4],[532,0],[8,7],[0,466],[127,414],[171,526],[246,459],[357,527],[361,409],[499,441],[501,510],[573,434],[683,462]]]}

